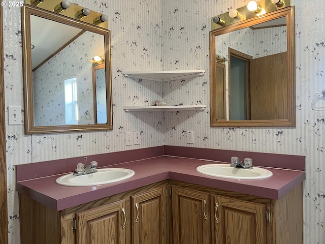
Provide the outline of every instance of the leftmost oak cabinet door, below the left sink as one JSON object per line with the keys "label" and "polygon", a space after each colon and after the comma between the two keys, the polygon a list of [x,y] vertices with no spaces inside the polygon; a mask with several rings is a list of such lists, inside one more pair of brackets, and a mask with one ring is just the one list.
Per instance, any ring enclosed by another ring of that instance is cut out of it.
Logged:
{"label": "leftmost oak cabinet door, below the left sink", "polygon": [[125,244],[125,200],[76,213],[78,244]]}

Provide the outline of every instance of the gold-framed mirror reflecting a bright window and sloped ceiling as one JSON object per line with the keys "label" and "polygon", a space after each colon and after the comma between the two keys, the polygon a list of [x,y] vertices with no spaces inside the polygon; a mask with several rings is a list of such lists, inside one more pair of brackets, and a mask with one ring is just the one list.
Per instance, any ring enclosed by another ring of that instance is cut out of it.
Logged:
{"label": "gold-framed mirror reflecting a bright window and sloped ceiling", "polygon": [[[112,130],[110,31],[30,5],[21,17],[25,134]],[[95,92],[98,64],[105,66],[105,90]]]}

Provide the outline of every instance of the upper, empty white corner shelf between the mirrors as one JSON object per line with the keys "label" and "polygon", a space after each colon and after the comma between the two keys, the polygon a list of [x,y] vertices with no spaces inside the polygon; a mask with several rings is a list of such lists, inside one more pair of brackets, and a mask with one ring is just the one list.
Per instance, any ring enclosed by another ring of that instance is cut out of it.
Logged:
{"label": "upper, empty white corner shelf between the mirrors", "polygon": [[125,77],[154,80],[170,81],[194,76],[205,75],[205,70],[174,70],[174,71],[124,71]]}

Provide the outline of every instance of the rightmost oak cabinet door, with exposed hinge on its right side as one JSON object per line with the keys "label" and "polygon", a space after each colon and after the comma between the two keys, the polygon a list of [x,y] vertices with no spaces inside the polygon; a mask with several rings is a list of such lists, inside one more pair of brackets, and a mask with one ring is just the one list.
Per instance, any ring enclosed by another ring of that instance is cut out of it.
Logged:
{"label": "rightmost oak cabinet door, with exposed hinge on its right side", "polygon": [[215,243],[265,244],[266,205],[214,195]]}

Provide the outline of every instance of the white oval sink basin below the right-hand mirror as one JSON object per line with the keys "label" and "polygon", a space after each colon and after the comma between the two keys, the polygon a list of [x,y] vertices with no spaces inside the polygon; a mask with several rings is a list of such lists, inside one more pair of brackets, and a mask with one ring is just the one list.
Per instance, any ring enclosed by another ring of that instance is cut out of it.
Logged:
{"label": "white oval sink basin below the right-hand mirror", "polygon": [[229,179],[264,179],[273,175],[267,169],[254,166],[252,169],[241,169],[230,167],[230,164],[205,164],[199,166],[197,171],[202,174]]}

